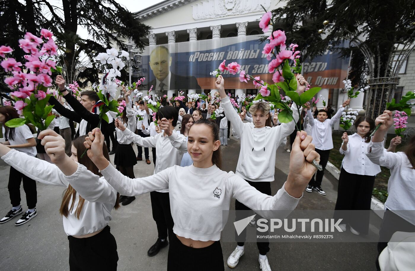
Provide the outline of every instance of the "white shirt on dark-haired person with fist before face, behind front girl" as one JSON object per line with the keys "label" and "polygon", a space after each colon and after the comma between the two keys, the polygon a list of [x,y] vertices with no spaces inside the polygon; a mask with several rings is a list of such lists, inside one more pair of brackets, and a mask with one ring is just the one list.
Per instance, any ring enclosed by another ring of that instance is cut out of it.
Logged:
{"label": "white shirt on dark-haired person with fist before face, behind front girl", "polygon": [[[170,136],[164,136],[164,133],[159,133],[154,136],[143,138],[128,129],[122,131],[122,133],[135,144],[147,147],[156,148],[156,165],[154,168],[154,174],[174,165],[180,165],[183,152],[178,148],[173,147],[171,141],[178,142],[178,145],[183,145],[186,141],[186,137],[180,133],[173,131]],[[187,143],[186,143],[187,144]],[[186,147],[187,151],[187,147]],[[168,189],[157,190],[157,192],[167,193]]]}

